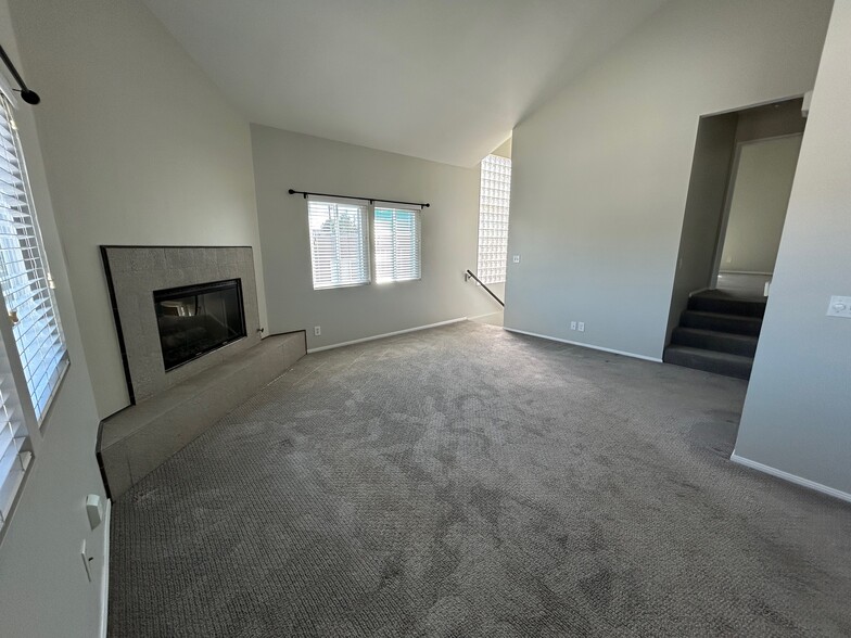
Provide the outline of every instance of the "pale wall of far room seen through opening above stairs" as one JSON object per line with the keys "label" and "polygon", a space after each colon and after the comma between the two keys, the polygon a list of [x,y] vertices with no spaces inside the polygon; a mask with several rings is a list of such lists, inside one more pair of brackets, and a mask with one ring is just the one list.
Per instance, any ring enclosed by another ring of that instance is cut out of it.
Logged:
{"label": "pale wall of far room seen through opening above stairs", "polygon": [[739,146],[721,270],[774,272],[801,136]]}

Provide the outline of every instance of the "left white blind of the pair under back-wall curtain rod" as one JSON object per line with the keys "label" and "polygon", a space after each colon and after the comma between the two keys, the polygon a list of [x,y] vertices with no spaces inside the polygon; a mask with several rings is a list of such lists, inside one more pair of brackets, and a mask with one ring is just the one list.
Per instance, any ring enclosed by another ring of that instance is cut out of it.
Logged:
{"label": "left white blind of the pair under back-wall curtain rod", "polygon": [[314,289],[369,283],[369,222],[357,204],[308,200]]}

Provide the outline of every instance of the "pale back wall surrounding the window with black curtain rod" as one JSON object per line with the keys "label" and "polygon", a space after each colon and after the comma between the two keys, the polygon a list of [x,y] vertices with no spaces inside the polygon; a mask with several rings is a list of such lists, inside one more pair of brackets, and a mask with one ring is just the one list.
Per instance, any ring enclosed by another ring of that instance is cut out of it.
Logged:
{"label": "pale back wall surrounding the window with black curtain rod", "polygon": [[[271,333],[307,330],[309,348],[498,310],[462,273],[474,269],[479,167],[459,168],[252,125]],[[429,202],[422,279],[313,290],[306,202],[288,189]],[[321,336],[313,327],[321,326]]]}

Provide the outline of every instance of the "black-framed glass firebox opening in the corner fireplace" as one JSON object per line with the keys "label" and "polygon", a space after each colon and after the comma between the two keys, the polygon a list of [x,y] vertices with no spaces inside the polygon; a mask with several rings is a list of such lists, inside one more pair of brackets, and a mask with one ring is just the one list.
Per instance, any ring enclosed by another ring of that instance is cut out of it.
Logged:
{"label": "black-framed glass firebox opening in the corner fireplace", "polygon": [[239,279],[154,291],[166,371],[245,336]]}

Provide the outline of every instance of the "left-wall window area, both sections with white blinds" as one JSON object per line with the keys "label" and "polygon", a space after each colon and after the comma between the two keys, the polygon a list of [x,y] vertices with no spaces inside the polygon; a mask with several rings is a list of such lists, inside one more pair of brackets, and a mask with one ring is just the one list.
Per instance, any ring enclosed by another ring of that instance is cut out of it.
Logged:
{"label": "left-wall window area, both sections with white blinds", "polygon": [[67,368],[51,288],[12,105],[0,92],[0,290],[9,317],[0,319],[0,528]]}

